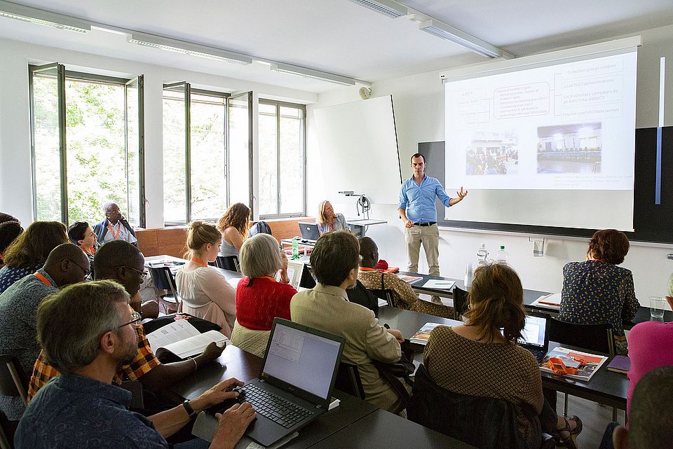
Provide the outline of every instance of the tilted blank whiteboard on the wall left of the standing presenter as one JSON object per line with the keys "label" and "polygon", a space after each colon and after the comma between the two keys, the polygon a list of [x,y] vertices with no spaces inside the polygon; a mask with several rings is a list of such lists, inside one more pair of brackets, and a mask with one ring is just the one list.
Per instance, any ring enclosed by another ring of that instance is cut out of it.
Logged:
{"label": "tilted blank whiteboard on the wall left of the standing presenter", "polygon": [[315,109],[325,198],[339,191],[397,204],[402,185],[393,96]]}

